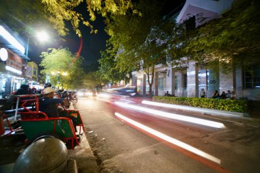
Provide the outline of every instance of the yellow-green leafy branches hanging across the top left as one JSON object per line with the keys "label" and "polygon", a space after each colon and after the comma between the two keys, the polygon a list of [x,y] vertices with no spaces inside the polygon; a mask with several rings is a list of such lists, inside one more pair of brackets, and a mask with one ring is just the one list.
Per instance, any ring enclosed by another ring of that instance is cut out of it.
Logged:
{"label": "yellow-green leafy branches hanging across the top left", "polygon": [[[84,18],[82,9],[88,12],[87,19],[86,16]],[[76,34],[81,36],[81,24],[90,27],[91,32],[96,33],[97,30],[90,24],[90,21],[96,19],[96,14],[101,14],[109,22],[109,15],[122,15],[129,9],[133,10],[131,0],[1,0],[0,18],[5,18],[8,25],[13,26],[12,29],[23,28],[23,31],[31,29],[31,25],[42,26],[49,23],[60,36],[68,33],[65,22],[70,21]],[[133,13],[138,12],[133,10]]]}

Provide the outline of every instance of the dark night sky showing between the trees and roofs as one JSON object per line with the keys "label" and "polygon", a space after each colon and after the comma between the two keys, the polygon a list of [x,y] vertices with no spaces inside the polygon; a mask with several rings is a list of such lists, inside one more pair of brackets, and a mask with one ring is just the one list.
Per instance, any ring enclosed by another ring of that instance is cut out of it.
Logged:
{"label": "dark night sky showing between the trees and roofs", "polygon": [[[166,0],[164,4],[164,13],[165,14],[170,13],[174,8],[177,8],[183,2],[185,2],[185,0],[175,0],[175,1]],[[79,9],[80,11],[82,11],[82,14],[86,14],[86,10],[84,9],[82,10]],[[83,38],[83,46],[80,55],[85,59],[84,63],[88,65],[98,61],[98,59],[101,57],[100,51],[105,50],[105,40],[109,38],[107,34],[105,34],[104,31],[105,24],[103,23],[103,18],[101,16],[97,16],[96,21],[94,21],[92,25],[94,25],[94,29],[98,29],[97,34],[90,34],[90,29],[83,25],[79,27],[81,29],[81,34]],[[66,40],[66,42],[57,41],[57,39],[49,40],[48,42],[39,43],[37,45],[33,44],[32,42],[29,42],[28,54],[31,61],[40,64],[41,59],[39,55],[42,51],[47,51],[48,48],[57,49],[60,46],[62,46],[63,48],[68,47],[68,49],[72,53],[76,53],[77,50],[79,49],[80,38],[75,34],[75,31],[73,31],[73,29],[70,27],[70,23],[67,23],[67,27],[68,29],[70,29],[70,32],[68,36],[63,37]]]}

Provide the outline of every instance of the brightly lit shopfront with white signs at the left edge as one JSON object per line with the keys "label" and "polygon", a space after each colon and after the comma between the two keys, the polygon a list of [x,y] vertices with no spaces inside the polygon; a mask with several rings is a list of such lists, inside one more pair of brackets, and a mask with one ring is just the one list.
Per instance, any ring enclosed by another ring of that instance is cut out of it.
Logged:
{"label": "brightly lit shopfront with white signs at the left edge", "polygon": [[12,33],[11,29],[0,21],[0,97],[5,97],[20,88],[25,82],[25,47]]}

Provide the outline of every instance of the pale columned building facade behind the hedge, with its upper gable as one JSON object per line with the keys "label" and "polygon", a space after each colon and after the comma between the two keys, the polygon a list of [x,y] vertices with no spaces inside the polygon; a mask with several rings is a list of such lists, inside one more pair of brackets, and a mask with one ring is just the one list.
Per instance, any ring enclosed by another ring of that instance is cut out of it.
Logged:
{"label": "pale columned building facade behind the hedge, with its upper gable", "polygon": [[[187,0],[176,21],[182,23],[192,19],[195,27],[198,27],[230,10],[232,2],[233,0]],[[141,95],[147,95],[148,81],[144,71],[132,72],[132,76],[132,85],[137,85]],[[168,92],[174,96],[199,97],[202,88],[207,98],[211,98],[215,90],[220,93],[230,90],[235,92],[237,98],[260,101],[260,66],[252,66],[250,72],[242,66],[226,72],[220,66],[209,68],[193,61],[178,68],[170,64],[155,66],[152,88],[155,96],[164,96]]]}

